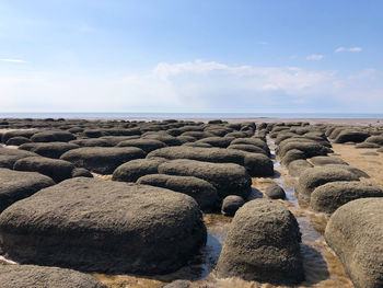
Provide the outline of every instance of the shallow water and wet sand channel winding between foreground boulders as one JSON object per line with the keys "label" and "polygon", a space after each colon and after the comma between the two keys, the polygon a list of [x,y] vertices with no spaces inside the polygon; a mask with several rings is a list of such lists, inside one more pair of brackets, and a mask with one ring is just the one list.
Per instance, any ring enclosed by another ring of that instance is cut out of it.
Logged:
{"label": "shallow water and wet sand channel winding between foreground boulders", "polygon": [[[300,286],[294,287],[353,287],[349,278],[345,275],[339,258],[327,246],[323,238],[328,217],[324,214],[311,211],[307,205],[297,199],[294,195],[297,177],[289,176],[287,169],[281,166],[275,158],[274,142],[270,140],[268,142],[276,173],[274,177],[253,178],[253,193],[251,198],[262,197],[264,188],[274,183],[279,184],[286,191],[287,199],[278,201],[286,205],[293,212],[299,222],[302,233],[301,253],[306,278]],[[161,287],[165,283],[175,279],[192,280],[192,287],[286,287],[244,281],[239,278],[216,278],[213,268],[219,258],[232,218],[217,214],[205,214],[204,220],[208,229],[206,247],[178,272],[170,275],[151,277],[128,275],[112,276],[103,274],[94,274],[93,276],[107,284],[109,287]]]}

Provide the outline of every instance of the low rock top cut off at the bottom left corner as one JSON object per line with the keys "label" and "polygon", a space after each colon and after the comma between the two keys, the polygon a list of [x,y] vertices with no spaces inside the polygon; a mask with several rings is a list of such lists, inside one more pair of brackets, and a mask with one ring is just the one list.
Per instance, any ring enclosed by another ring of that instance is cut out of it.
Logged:
{"label": "low rock top cut off at the bottom left corner", "polygon": [[106,288],[96,278],[72,269],[34,265],[0,265],[2,288]]}

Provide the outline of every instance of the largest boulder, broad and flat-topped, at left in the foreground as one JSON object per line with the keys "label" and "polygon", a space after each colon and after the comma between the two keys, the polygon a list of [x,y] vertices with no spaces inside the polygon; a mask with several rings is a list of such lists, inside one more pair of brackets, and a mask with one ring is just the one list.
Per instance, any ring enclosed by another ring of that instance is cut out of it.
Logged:
{"label": "largest boulder, broad and flat-topped, at left in the foreground", "polygon": [[76,177],[5,209],[0,235],[3,252],[20,263],[164,274],[205,244],[206,228],[187,195]]}

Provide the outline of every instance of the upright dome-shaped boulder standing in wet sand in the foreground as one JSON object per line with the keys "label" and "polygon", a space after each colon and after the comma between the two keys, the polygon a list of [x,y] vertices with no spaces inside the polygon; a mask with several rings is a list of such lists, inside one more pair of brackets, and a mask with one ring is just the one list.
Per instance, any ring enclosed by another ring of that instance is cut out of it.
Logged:
{"label": "upright dome-shaped boulder standing in wet sand in the foreground", "polygon": [[231,222],[217,264],[218,277],[299,284],[304,278],[300,242],[297,219],[283,205],[251,200]]}

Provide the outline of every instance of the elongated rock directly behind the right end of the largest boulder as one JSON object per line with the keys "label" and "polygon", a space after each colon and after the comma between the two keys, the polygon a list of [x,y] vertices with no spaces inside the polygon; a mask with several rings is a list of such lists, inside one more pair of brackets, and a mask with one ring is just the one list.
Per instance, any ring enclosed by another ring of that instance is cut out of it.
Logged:
{"label": "elongated rock directly behind the right end of the largest boulder", "polygon": [[193,197],[202,211],[212,211],[218,204],[218,194],[209,182],[194,176],[151,174],[138,178],[137,183],[163,187]]}

